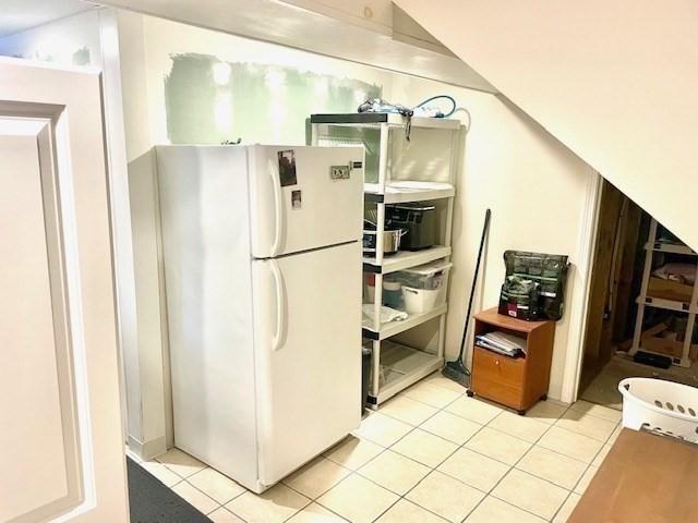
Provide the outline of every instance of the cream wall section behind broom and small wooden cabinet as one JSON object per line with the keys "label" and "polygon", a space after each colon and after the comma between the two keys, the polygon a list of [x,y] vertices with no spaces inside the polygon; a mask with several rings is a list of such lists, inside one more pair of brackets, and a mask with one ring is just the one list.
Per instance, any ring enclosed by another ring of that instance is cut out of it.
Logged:
{"label": "cream wall section behind broom and small wooden cabinet", "polygon": [[[453,94],[470,121],[454,218],[454,269],[446,320],[446,354],[455,357],[462,336],[467,300],[474,271],[484,211],[492,209],[490,236],[481,268],[474,311],[497,305],[506,250],[566,254],[573,264],[566,294],[567,309],[555,330],[550,397],[562,398],[568,348],[576,332],[570,319],[579,315],[571,305],[583,295],[580,278],[580,238],[593,171],[505,98],[438,83],[397,76],[392,96],[417,104],[428,96]],[[472,331],[471,331],[472,332]],[[468,355],[470,358],[470,354]]]}

